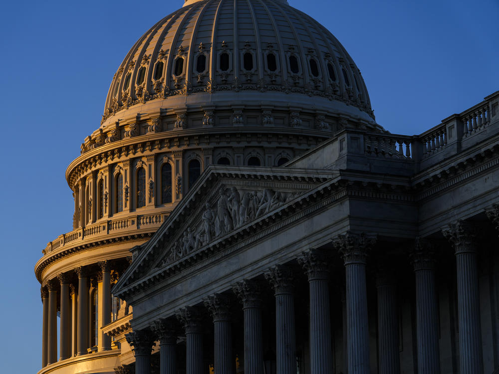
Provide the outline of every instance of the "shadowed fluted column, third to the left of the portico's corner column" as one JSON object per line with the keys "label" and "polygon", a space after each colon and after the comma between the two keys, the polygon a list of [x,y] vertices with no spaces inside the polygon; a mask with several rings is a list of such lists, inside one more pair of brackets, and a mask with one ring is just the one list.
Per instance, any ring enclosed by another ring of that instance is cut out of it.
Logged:
{"label": "shadowed fluted column, third to the left of the portico's corner column", "polygon": [[261,332],[261,296],[259,284],[243,280],[233,286],[243,303],[245,318],[245,374],[263,374],[263,339]]}

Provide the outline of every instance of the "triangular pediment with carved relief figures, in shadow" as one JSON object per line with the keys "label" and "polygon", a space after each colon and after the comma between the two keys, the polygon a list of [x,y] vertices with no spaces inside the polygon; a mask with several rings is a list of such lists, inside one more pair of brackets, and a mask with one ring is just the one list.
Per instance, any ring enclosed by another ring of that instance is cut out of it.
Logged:
{"label": "triangular pediment with carved relief figures, in shadow", "polygon": [[256,222],[275,218],[284,206],[335,176],[325,170],[211,166],[137,250],[116,293],[162,269],[206,256],[230,237],[243,238]]}

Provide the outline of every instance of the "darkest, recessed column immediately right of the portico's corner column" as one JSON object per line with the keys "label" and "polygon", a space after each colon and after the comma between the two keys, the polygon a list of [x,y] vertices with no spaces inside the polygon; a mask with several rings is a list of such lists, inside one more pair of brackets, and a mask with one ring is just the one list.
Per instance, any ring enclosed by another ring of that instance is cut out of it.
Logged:
{"label": "darkest, recessed column immediately right of the portico's corner column", "polygon": [[395,281],[385,270],[376,275],[378,291],[378,363],[379,373],[399,374],[399,326]]}

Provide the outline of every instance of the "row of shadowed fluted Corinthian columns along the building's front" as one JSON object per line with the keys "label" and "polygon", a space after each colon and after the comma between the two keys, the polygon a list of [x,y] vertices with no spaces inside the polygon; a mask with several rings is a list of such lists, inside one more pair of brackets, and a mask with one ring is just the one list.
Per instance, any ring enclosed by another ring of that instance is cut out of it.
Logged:
{"label": "row of shadowed fluted Corinthian columns along the building's front", "polygon": [[[480,331],[477,252],[472,230],[463,221],[443,229],[457,258],[457,284],[460,331],[460,373],[483,373]],[[334,238],[333,245],[342,255],[345,266],[346,365],[348,374],[369,374],[369,331],[367,310],[366,263],[376,243],[374,235],[347,232]],[[309,249],[296,258],[308,277],[309,288],[309,365],[310,373],[334,373],[331,347],[329,300],[330,259],[325,250]],[[410,253],[416,286],[416,347],[418,373],[439,374],[438,302],[435,282],[435,249],[431,243],[416,239]],[[296,373],[296,332],[293,271],[288,265],[275,265],[264,272],[275,297],[276,373]],[[397,318],[396,279],[378,271],[378,373],[399,374],[399,326]],[[244,316],[244,372],[264,374],[262,344],[262,280],[244,279],[232,287]],[[149,358],[156,340],[160,344],[160,373],[176,373],[177,336],[186,336],[186,374],[203,370],[203,310],[213,317],[214,369],[217,374],[233,374],[234,352],[231,333],[231,295],[214,294],[204,306],[188,306],[176,316],[155,321],[149,328],[134,331],[127,340],[135,349],[136,374],[150,374]],[[233,302],[234,303],[234,302]],[[175,328],[175,317],[183,332]],[[207,369],[207,368],[204,368]]]}

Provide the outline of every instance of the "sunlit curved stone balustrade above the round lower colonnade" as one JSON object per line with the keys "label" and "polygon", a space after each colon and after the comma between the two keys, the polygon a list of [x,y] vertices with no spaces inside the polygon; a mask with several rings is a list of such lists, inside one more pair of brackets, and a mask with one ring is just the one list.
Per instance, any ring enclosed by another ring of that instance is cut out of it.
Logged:
{"label": "sunlit curved stone balustrade above the round lower colonnade", "polygon": [[138,229],[158,228],[165,221],[168,214],[169,212],[158,212],[132,215],[93,223],[84,228],[78,228],[66,234],[59,235],[56,239],[49,242],[42,252],[43,254],[48,254],[61,248],[75,245],[80,241],[88,241],[94,237],[103,235],[113,235]]}

